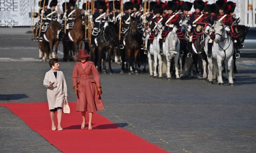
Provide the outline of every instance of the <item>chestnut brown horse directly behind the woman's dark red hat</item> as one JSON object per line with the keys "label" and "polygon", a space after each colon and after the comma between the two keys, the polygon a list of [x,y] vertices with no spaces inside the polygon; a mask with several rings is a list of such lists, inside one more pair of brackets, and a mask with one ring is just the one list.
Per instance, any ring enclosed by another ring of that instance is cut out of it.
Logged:
{"label": "chestnut brown horse directly behind the woman's dark red hat", "polygon": [[82,39],[84,38],[84,31],[82,30],[82,12],[76,9],[76,18],[74,20],[74,26],[68,33],[68,39],[73,42],[73,59],[76,61],[76,55],[79,49],[82,47]]}

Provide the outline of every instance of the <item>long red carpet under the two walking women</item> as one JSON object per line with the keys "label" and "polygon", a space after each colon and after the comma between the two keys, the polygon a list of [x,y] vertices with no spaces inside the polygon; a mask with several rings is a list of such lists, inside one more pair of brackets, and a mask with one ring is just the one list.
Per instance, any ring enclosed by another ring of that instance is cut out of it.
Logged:
{"label": "long red carpet under the two walking women", "polygon": [[[19,116],[28,126],[64,153],[165,153],[160,147],[147,142],[130,131],[118,127],[107,118],[94,113],[93,130],[80,129],[82,117],[75,112],[76,104],[69,103],[70,114],[63,114],[63,131],[52,131],[47,102],[0,103]],[[57,116],[55,119],[57,125]]]}

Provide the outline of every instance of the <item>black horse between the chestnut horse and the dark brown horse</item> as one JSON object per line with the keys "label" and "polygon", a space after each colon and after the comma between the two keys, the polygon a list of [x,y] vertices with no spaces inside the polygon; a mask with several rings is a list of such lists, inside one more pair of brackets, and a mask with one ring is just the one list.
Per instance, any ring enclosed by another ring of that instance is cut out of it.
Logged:
{"label": "black horse between the chestnut horse and the dark brown horse", "polygon": [[106,53],[108,53],[108,71],[110,74],[113,73],[111,68],[111,51],[114,49],[114,46],[117,45],[117,35],[114,29],[114,26],[107,26],[106,28],[102,28],[101,32],[97,37],[97,50],[98,50],[98,71],[101,73],[101,61],[103,59],[103,72],[107,73],[106,71]]}

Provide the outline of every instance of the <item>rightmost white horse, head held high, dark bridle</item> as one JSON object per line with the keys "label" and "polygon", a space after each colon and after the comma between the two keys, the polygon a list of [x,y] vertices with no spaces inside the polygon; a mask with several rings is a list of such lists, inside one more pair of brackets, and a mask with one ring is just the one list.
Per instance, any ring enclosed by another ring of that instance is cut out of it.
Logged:
{"label": "rightmost white horse, head held high, dark bridle", "polygon": [[[215,43],[212,48],[212,58],[213,63],[217,62],[218,64],[218,84],[224,85],[222,80],[222,63],[224,60],[227,61],[228,64],[228,82],[230,86],[234,85],[234,81],[232,78],[232,63],[233,63],[233,42],[230,36],[226,33],[225,26],[222,22],[214,21],[214,29],[215,29]],[[210,65],[210,63],[209,63]],[[215,64],[216,65],[216,64]],[[212,63],[210,65],[212,67]],[[209,79],[210,80],[210,79]]]}

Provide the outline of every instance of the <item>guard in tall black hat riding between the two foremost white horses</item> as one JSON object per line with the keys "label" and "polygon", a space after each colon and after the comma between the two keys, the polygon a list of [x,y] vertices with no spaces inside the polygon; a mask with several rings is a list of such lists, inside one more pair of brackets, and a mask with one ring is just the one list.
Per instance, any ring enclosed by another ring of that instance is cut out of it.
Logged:
{"label": "guard in tall black hat riding between the two foremost white horses", "polygon": [[188,42],[188,57],[192,57],[192,43],[197,39],[199,35],[202,35],[203,29],[208,31],[210,29],[210,16],[204,14],[204,6],[206,4],[201,0],[194,1],[194,9],[196,10],[194,13],[191,14],[190,20],[188,20],[188,28],[187,31],[190,34],[189,42]]}

